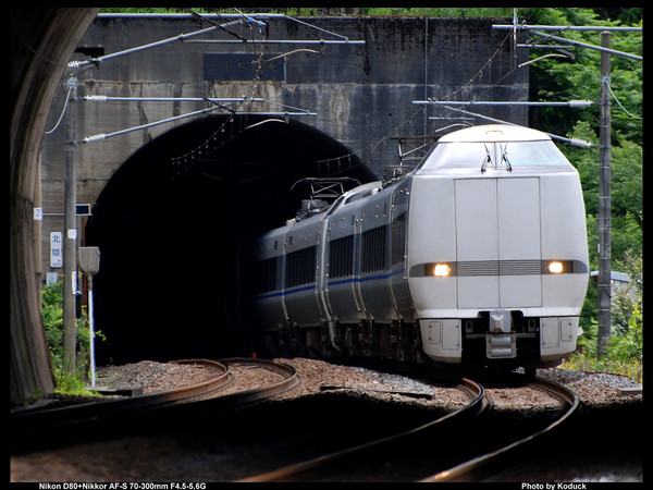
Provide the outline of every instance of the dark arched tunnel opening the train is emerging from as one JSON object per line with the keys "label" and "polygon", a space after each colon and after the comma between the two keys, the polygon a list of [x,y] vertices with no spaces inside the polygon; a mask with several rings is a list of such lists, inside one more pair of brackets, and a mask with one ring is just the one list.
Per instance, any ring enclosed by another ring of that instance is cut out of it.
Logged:
{"label": "dark arched tunnel opening the train is emerging from", "polygon": [[237,247],[295,216],[307,196],[289,188],[306,176],[375,179],[315,127],[254,115],[187,123],[125,161],[86,225],[101,252],[98,364],[249,354]]}

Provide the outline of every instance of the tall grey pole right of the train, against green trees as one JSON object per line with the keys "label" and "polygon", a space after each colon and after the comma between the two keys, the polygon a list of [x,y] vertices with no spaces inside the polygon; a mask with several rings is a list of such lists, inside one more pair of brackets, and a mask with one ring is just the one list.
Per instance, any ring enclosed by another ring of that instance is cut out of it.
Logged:
{"label": "tall grey pole right of the train, against green trees", "polygon": [[[611,33],[601,33],[601,46],[609,49]],[[599,333],[597,355],[605,354],[611,334],[611,53],[601,53],[601,128],[599,150]]]}

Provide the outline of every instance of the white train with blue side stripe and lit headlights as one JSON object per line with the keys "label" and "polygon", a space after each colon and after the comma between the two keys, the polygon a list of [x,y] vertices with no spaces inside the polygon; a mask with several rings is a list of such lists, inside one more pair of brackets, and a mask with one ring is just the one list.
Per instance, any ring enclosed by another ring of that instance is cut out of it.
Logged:
{"label": "white train with blue side stripe and lit headlights", "polygon": [[575,352],[586,210],[551,136],[469,126],[394,170],[331,203],[311,196],[243,246],[258,348],[530,370]]}

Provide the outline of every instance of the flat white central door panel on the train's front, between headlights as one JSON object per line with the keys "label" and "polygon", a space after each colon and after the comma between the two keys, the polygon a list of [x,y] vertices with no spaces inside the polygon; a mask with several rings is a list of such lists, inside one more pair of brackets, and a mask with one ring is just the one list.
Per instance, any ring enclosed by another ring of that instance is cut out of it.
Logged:
{"label": "flat white central door panel on the train's front, between headlights", "polygon": [[539,179],[456,180],[455,201],[458,307],[541,306]]}

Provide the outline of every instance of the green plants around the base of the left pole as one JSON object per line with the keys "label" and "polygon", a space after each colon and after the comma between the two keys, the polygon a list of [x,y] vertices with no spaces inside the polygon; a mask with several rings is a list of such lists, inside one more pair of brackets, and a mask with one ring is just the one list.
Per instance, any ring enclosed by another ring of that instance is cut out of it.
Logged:
{"label": "green plants around the base of the left pole", "polygon": [[[76,320],[78,345],[76,372],[70,376],[63,369],[63,281],[46,285],[41,290],[41,318],[50,347],[56,391],[66,394],[90,394],[84,390],[86,372],[89,367],[90,345],[89,330],[86,327],[86,311],[83,311],[82,318]],[[98,336],[102,339],[100,332],[96,332],[96,338]]]}

